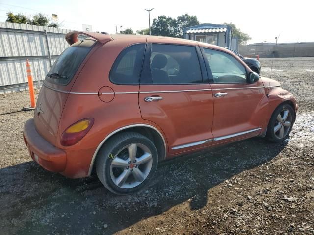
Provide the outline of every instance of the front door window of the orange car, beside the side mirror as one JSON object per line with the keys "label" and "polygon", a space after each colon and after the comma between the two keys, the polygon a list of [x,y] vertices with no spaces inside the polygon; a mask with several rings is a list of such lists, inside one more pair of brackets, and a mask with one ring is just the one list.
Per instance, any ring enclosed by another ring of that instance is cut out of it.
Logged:
{"label": "front door window of the orange car, beside the side mirror", "polygon": [[246,83],[245,67],[235,57],[218,50],[204,48],[213,83]]}

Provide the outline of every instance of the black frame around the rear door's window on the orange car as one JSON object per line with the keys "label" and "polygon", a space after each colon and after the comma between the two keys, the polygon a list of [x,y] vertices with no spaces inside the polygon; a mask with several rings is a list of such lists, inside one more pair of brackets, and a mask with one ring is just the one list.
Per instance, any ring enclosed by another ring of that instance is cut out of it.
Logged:
{"label": "black frame around the rear door's window on the orange car", "polygon": [[[199,66],[200,66],[200,71],[201,71],[201,76],[202,76],[202,81],[203,82],[197,82],[197,83],[153,83],[153,79],[152,79],[152,74],[151,74],[151,67],[150,67],[150,60],[151,60],[151,53],[152,53],[152,46],[153,44],[161,44],[161,45],[171,45],[171,46],[185,46],[185,47],[194,47],[195,48],[195,52],[197,55],[197,59],[199,62]],[[162,85],[198,85],[198,84],[209,84],[209,79],[207,76],[207,72],[206,72],[206,65],[204,62],[204,65],[202,67],[202,60],[200,58],[200,54],[198,53],[197,47],[199,47],[198,45],[186,45],[186,44],[178,44],[178,43],[162,43],[162,42],[153,42],[153,43],[147,43],[147,50],[145,51],[145,56],[144,56],[144,63],[143,63],[143,67],[142,67],[142,73],[140,76],[140,81],[139,84],[140,85],[154,85],[154,86],[162,86]],[[202,56],[201,56],[202,57]],[[204,58],[203,58],[204,60]],[[204,70],[204,71],[203,71]],[[143,75],[145,74],[145,75]],[[149,78],[144,78],[146,76],[149,76]],[[205,76],[205,77],[204,77]],[[151,83],[142,83],[141,81],[143,80],[148,80],[150,79]],[[206,81],[207,80],[207,81]]]}

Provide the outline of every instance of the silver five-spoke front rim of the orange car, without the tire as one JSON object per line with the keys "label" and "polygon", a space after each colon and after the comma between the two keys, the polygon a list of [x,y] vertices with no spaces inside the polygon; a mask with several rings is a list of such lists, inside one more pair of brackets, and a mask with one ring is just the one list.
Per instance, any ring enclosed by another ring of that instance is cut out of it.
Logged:
{"label": "silver five-spoke front rim of the orange car, without the tire", "polygon": [[276,117],[274,134],[278,139],[284,138],[290,131],[292,114],[288,109],[283,109]]}

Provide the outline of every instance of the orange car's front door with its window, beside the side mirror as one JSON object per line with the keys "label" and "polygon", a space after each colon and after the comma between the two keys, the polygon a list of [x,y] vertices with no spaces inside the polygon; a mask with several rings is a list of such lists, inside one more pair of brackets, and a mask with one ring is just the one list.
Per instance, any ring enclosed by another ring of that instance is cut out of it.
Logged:
{"label": "orange car's front door with its window, beside the side mirror", "polygon": [[213,91],[213,144],[257,136],[265,126],[267,99],[262,81],[249,83],[236,56],[202,48]]}

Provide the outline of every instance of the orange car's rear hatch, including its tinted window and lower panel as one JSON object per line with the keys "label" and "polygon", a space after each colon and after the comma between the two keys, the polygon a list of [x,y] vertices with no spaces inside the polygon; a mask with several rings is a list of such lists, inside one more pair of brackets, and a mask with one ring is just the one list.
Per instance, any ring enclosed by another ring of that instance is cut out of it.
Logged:
{"label": "orange car's rear hatch, including its tinted window and lower panel", "polygon": [[35,127],[53,145],[56,145],[59,121],[71,87],[96,42],[94,39],[84,39],[64,50],[54,62],[40,90],[35,109]]}

